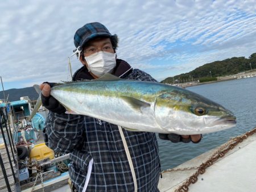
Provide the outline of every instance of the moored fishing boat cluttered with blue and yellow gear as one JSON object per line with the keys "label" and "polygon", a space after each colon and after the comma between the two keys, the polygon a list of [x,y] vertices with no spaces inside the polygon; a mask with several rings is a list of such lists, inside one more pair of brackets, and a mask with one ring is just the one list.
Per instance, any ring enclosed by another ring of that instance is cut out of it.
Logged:
{"label": "moored fishing boat cluttered with blue and yellow gear", "polygon": [[28,97],[0,103],[0,191],[52,191],[68,183],[69,155],[56,154],[43,139],[47,110],[28,122]]}

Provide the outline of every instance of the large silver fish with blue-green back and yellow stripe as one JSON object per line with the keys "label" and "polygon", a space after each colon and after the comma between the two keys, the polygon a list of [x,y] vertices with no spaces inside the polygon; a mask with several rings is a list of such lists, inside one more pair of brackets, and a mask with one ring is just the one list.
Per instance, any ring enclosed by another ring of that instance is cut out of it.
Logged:
{"label": "large silver fish with blue-green back and yellow stripe", "polygon": [[[193,135],[236,126],[232,112],[192,91],[110,74],[54,86],[51,95],[71,114],[92,116],[130,131]],[[39,107],[40,98],[33,113]]]}

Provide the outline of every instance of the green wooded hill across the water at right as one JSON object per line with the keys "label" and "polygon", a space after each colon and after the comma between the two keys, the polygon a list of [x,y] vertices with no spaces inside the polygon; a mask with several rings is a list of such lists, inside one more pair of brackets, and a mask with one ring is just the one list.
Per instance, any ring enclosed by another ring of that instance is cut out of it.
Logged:
{"label": "green wooded hill across the water at right", "polygon": [[223,61],[214,61],[199,66],[188,73],[182,73],[174,77],[168,77],[161,81],[162,83],[172,84],[176,82],[189,82],[199,80],[203,77],[220,77],[230,74],[237,74],[246,70],[256,69],[256,53],[253,53],[249,59],[245,57],[232,57]]}

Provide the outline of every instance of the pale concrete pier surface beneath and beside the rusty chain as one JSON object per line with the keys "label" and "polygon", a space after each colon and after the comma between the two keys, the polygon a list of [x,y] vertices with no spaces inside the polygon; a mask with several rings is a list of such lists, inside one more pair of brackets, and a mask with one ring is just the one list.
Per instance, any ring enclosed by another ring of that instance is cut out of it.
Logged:
{"label": "pale concrete pier surface beneath and beside the rusty chain", "polygon": [[[216,149],[213,149],[203,153],[175,169],[200,166],[215,151]],[[159,180],[159,190],[175,191],[195,172],[196,169],[163,173],[163,178]],[[205,169],[205,173],[199,175],[197,182],[188,187],[191,192],[256,191],[256,133]]]}

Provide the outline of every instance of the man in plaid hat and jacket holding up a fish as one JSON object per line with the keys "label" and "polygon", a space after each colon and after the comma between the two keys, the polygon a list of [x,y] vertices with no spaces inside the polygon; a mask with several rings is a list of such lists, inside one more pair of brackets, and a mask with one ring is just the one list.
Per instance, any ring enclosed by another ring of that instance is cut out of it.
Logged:
{"label": "man in plaid hat and jacket holding up a fish", "polygon": [[[93,80],[105,73],[124,79],[156,81],[117,59],[117,35],[110,34],[101,23],[88,23],[79,28],[74,43],[75,54],[83,66],[73,75],[73,81]],[[70,153],[69,175],[77,191],[134,191],[136,188],[159,191],[160,160],[155,133],[131,132],[90,116],[65,114],[65,108],[49,95],[51,86],[47,82],[40,85],[42,103],[49,109],[44,129],[46,143],[55,151]],[[159,136],[174,142],[201,140],[201,135]]]}

